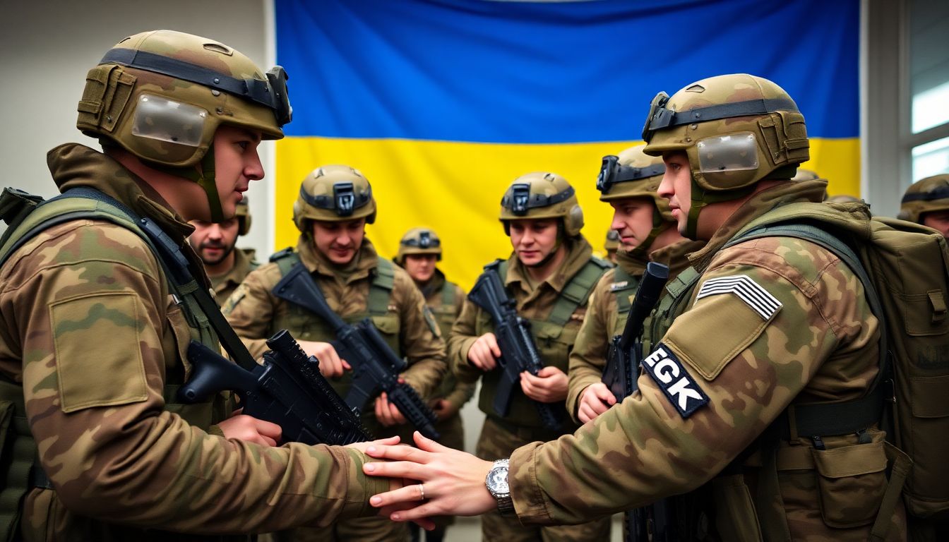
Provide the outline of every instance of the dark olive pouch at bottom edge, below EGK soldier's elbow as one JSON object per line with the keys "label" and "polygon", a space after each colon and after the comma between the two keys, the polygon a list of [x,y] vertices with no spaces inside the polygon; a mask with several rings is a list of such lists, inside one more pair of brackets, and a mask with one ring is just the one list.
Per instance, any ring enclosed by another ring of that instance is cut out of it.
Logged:
{"label": "dark olive pouch at bottom edge, below EGK soldier's elbow", "polygon": [[755,513],[752,494],[742,474],[723,475],[712,479],[715,496],[716,530],[722,540],[758,542],[761,526]]}

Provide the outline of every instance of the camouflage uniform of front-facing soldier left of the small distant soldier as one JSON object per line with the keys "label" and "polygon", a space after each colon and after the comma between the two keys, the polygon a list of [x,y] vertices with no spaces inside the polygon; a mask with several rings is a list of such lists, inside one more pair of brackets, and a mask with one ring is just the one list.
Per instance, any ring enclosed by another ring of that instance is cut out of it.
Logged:
{"label": "camouflage uniform of front-facing soldier left of the small distant soldier", "polygon": [[[370,283],[380,265],[380,257],[368,239],[344,269],[332,264],[326,256],[313,248],[306,235],[301,235],[296,253],[300,261],[326,296],[326,303],[347,322],[362,320],[367,313]],[[391,264],[390,264],[391,265]],[[389,297],[388,313],[372,316],[389,346],[409,362],[402,374],[406,383],[422,397],[429,397],[441,381],[445,371],[445,346],[427,321],[424,300],[408,273],[393,266],[394,286]],[[335,339],[332,329],[318,316],[276,297],[273,288],[283,274],[278,263],[271,262],[251,273],[237,287],[225,304],[224,313],[234,330],[259,357],[267,349],[266,339],[280,329],[288,329],[299,340],[329,342]],[[345,397],[351,375],[329,379],[333,387]],[[412,426],[383,427],[376,421],[370,406],[366,407],[363,422],[376,437],[400,435],[411,442]],[[362,518],[341,521],[333,525],[332,533],[297,530],[283,533],[288,539],[393,539],[405,538],[404,523],[393,523],[385,518]]]}

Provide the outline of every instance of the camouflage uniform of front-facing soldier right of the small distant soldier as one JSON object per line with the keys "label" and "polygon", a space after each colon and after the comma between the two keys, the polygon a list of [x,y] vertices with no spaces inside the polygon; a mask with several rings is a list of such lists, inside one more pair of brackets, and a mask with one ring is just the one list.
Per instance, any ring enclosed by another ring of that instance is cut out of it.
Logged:
{"label": "camouflage uniform of front-facing soldier right of the small distant soldier", "polygon": [[[560,269],[554,271],[546,281],[531,290],[527,270],[516,255],[508,261],[506,276],[502,276],[505,287],[516,301],[518,314],[530,319],[538,339],[537,347],[545,365],[568,371],[568,354],[573,347],[577,331],[586,314],[586,304],[577,308],[570,321],[563,327],[547,327],[545,320],[556,304],[569,280],[590,261],[592,248],[582,236],[566,241],[567,256]],[[569,421],[564,408],[556,406],[564,418],[559,430],[545,429],[532,401],[519,389],[512,395],[508,416],[501,418],[494,412],[494,392],[500,378],[500,370],[482,372],[468,362],[468,350],[484,333],[493,330],[490,315],[466,300],[461,314],[452,328],[448,341],[449,360],[462,382],[475,382],[480,377],[481,393],[478,405],[487,415],[475,454],[478,458],[494,460],[507,458],[518,448],[535,440],[554,440],[567,435],[576,428]],[[609,518],[598,519],[582,525],[561,527],[523,526],[516,519],[502,517],[496,512],[482,515],[481,531],[485,540],[603,540],[609,533]],[[580,523],[575,520],[569,523]]]}

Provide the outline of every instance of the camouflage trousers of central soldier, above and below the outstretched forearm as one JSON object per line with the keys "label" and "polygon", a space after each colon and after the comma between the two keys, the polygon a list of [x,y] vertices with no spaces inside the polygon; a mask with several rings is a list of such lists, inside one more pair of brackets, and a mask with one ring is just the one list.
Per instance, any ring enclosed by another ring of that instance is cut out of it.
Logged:
{"label": "camouflage trousers of central soldier, above and below the outstretched forearm", "polygon": [[[474,453],[478,458],[494,461],[510,458],[517,448],[530,442],[556,440],[556,432],[521,429],[512,432],[492,419],[485,420]],[[502,542],[587,542],[609,540],[610,517],[601,517],[579,525],[522,525],[516,517],[505,517],[497,511],[481,514],[481,539]]]}

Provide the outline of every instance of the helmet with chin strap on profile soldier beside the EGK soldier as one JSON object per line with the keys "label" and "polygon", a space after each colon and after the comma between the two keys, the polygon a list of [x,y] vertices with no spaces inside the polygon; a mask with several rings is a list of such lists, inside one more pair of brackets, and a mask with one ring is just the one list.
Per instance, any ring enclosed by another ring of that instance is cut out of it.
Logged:
{"label": "helmet with chin strap on profile soldier beside the EGK soldier", "polygon": [[643,153],[644,148],[645,145],[637,145],[624,150],[619,156],[603,157],[600,175],[596,179],[600,201],[645,197],[653,202],[652,230],[642,244],[631,251],[633,254],[648,251],[656,236],[676,222],[669,209],[669,201],[659,195],[665,165],[661,157]]}

